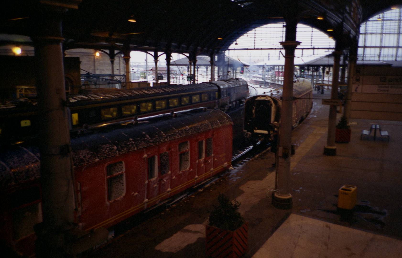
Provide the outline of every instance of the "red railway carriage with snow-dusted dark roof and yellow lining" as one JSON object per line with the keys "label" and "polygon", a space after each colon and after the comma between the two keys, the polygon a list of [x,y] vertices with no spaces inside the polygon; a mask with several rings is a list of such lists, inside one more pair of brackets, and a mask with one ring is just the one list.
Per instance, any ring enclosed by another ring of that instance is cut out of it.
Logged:
{"label": "red railway carriage with snow-dusted dark roof and yellow lining", "polygon": [[[71,143],[76,223],[90,231],[109,228],[228,168],[232,121],[222,111],[197,109],[76,133]],[[36,147],[15,145],[0,153],[6,189],[1,238],[25,254],[32,250],[21,243],[32,248],[32,227],[41,222],[39,166]],[[28,197],[30,191],[39,191],[38,198]],[[20,196],[18,205],[13,196]],[[31,216],[18,216],[28,210]]]}

